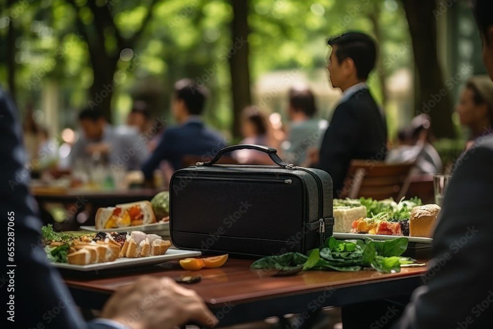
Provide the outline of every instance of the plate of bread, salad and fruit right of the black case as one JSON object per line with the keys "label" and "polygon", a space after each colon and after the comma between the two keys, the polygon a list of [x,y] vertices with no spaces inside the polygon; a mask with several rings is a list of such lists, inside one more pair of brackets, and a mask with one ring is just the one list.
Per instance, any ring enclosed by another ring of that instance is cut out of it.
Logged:
{"label": "plate of bread, salad and fruit right of the black case", "polygon": [[378,240],[404,236],[410,242],[430,244],[439,212],[438,205],[423,205],[418,198],[399,202],[391,198],[334,199],[334,236]]}

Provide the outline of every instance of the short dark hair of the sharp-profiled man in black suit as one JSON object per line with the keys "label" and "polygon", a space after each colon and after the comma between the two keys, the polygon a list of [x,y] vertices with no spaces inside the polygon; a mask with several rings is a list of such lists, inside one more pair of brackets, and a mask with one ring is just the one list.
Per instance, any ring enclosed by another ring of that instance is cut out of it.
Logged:
{"label": "short dark hair of the sharp-profiled man in black suit", "polygon": [[366,79],[375,67],[377,50],[372,38],[363,33],[348,32],[340,36],[328,37],[327,45],[337,46],[335,55],[339,63],[351,58],[360,79]]}

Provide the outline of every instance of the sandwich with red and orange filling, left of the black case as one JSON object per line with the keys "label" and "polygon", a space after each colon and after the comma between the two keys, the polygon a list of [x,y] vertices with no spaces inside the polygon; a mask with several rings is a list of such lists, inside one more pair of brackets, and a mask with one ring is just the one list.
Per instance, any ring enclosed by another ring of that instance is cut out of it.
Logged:
{"label": "sandwich with red and orange filling, left of the black case", "polygon": [[155,223],[156,217],[149,201],[139,201],[100,208],[95,221],[99,230]]}

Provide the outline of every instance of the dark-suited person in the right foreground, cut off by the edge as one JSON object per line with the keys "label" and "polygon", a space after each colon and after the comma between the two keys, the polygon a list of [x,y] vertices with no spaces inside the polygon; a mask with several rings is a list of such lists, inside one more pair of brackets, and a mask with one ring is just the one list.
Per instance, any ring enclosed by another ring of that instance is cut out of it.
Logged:
{"label": "dark-suited person in the right foreground, cut off by the edge", "polygon": [[[483,62],[493,78],[493,1],[471,1],[483,41]],[[483,124],[488,124],[485,122]],[[477,131],[489,129],[478,126]],[[433,236],[423,286],[411,295],[393,329],[491,328],[493,323],[493,135],[476,138],[452,172]],[[343,309],[344,329],[377,327],[388,311],[371,302]],[[401,311],[402,305],[394,305]],[[367,307],[367,308],[365,308]],[[361,313],[361,310],[366,310]],[[355,317],[355,314],[358,316]],[[392,323],[396,319],[388,319]],[[378,326],[378,328],[383,328]]]}

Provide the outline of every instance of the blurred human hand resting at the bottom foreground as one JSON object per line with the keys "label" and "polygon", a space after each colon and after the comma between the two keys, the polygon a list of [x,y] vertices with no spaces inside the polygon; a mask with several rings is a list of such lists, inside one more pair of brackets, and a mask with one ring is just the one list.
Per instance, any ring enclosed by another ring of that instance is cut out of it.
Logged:
{"label": "blurred human hand resting at the bottom foreground", "polygon": [[171,329],[190,320],[209,327],[218,323],[197,292],[171,278],[150,276],[118,289],[106,302],[101,317],[132,329]]}

